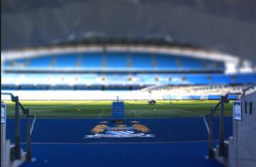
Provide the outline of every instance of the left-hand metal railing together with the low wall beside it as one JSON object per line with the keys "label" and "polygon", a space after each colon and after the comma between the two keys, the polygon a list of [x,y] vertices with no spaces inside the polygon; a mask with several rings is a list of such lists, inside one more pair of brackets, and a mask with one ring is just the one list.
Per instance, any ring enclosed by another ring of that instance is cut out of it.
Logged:
{"label": "left-hand metal railing together with the low wall beside it", "polygon": [[[8,140],[1,139],[1,146],[5,150],[1,153],[4,154],[5,159],[1,159],[1,164],[3,166],[18,166],[23,161],[31,161],[32,152],[31,152],[31,134],[33,132],[33,126],[36,122],[36,116],[31,115],[27,108],[24,108],[23,105],[19,102],[18,96],[14,96],[12,93],[1,93],[1,95],[11,96],[11,101],[15,103],[15,144],[11,146],[8,144]],[[21,108],[22,113],[26,115],[26,152],[23,153],[21,150],[21,125],[20,125],[20,115],[19,108]],[[5,138],[6,133],[6,103],[1,102],[1,115],[4,121],[1,121],[1,129],[4,129],[4,135],[1,135],[1,138]],[[4,113],[4,114],[3,114]],[[30,118],[33,117],[32,123],[30,123]],[[3,127],[3,128],[2,128]],[[10,156],[10,157],[9,157]]]}

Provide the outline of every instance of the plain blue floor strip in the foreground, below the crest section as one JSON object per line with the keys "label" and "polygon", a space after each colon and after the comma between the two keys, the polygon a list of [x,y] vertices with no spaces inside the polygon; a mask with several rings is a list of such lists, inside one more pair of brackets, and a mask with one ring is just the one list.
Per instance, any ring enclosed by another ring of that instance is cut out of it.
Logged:
{"label": "plain blue floor strip in the foreground, below the crest section", "polygon": [[206,159],[207,142],[33,144],[36,161],[23,166],[221,166]]}

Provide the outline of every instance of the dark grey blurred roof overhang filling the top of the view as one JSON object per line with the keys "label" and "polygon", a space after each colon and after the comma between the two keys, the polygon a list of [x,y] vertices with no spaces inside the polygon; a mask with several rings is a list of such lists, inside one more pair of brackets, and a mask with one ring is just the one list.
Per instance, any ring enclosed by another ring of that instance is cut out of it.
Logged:
{"label": "dark grey blurred roof overhang filling the top of the view", "polygon": [[93,35],[186,43],[256,63],[253,0],[2,0],[1,48],[51,45]]}

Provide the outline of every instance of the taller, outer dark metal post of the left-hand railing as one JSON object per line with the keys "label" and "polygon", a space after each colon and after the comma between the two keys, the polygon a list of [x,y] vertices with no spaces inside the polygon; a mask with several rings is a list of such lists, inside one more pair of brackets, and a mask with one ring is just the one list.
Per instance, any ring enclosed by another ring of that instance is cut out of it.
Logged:
{"label": "taller, outer dark metal post of the left-hand railing", "polygon": [[15,159],[21,159],[21,125],[18,111],[18,96],[14,96],[15,102]]}

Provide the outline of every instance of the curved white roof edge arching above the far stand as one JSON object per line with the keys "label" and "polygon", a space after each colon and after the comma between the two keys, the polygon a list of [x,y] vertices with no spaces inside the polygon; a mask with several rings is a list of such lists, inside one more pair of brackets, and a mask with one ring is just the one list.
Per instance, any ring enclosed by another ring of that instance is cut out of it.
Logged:
{"label": "curved white roof edge arching above the far stand", "polygon": [[6,50],[1,52],[2,59],[18,59],[20,57],[38,57],[46,54],[60,54],[71,52],[149,52],[162,54],[176,54],[186,57],[208,59],[224,62],[226,73],[236,73],[240,58],[232,54],[218,52],[215,50],[204,50],[191,47],[171,47],[156,45],[76,45],[76,46],[54,46],[37,47],[23,50]]}

